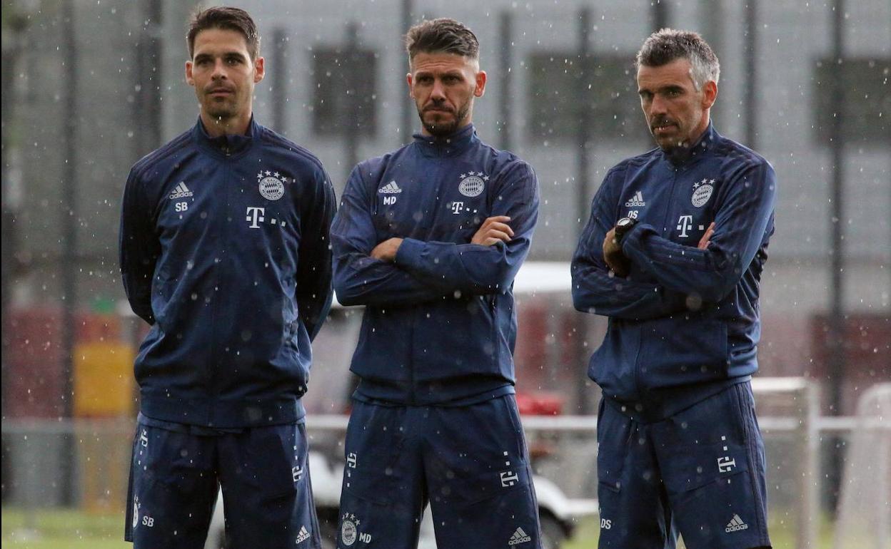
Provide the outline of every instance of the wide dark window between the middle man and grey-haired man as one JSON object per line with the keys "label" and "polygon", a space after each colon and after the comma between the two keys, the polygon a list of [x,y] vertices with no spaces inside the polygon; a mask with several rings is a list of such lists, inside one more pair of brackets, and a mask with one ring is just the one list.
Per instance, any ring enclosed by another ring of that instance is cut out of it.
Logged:
{"label": "wide dark window between the middle man and grey-haired man", "polygon": [[576,52],[536,52],[528,66],[530,138],[575,140],[581,108],[587,105],[591,109],[588,136],[592,141],[648,139],[637,96],[633,52],[597,53],[584,63]]}

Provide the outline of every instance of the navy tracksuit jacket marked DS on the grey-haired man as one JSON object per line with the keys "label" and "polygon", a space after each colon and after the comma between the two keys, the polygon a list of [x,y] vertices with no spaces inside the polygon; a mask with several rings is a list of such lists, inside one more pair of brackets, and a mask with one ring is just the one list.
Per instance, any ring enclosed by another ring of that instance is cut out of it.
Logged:
{"label": "navy tracksuit jacket marked DS on the grey-haired man", "polygon": [[[683,157],[652,149],[609,170],[572,261],[576,309],[609,317],[588,370],[605,396],[658,419],[757,369],[758,286],[773,233],[773,168],[712,125]],[[627,279],[603,261],[619,218]],[[697,248],[708,225],[715,234]]]}

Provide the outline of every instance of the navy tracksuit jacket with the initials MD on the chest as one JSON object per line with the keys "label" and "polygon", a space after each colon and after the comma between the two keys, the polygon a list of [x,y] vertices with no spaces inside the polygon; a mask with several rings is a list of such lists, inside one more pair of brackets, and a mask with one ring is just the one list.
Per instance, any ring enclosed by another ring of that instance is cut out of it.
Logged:
{"label": "navy tracksuit jacket with the initials MD on the chest", "polygon": [[[338,301],[365,305],[351,369],[356,397],[471,403],[513,392],[511,291],[538,213],[531,166],[479,141],[472,125],[412,143],[353,170],[331,226]],[[514,237],[470,244],[487,217]],[[396,262],[372,259],[405,238]]]}

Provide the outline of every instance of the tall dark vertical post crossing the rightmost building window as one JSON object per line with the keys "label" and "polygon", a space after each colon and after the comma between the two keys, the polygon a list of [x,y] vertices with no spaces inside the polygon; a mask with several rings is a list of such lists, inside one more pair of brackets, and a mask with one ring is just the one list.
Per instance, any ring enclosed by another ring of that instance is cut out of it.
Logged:
{"label": "tall dark vertical post crossing the rightmost building window", "polygon": [[[832,65],[835,67],[835,77],[832,78],[830,109],[833,117],[830,118],[830,147],[832,166],[830,182],[830,315],[829,336],[827,343],[827,386],[830,392],[830,414],[839,416],[842,414],[842,389],[845,375],[845,222],[844,208],[844,177],[845,177],[845,149],[842,121],[845,119],[845,77],[844,77],[844,25],[845,25],[845,0],[834,0],[832,7]],[[844,464],[841,440],[835,437],[831,445],[829,466],[827,468],[827,482],[829,484],[830,509],[835,513],[838,503],[838,488],[840,471]]]}

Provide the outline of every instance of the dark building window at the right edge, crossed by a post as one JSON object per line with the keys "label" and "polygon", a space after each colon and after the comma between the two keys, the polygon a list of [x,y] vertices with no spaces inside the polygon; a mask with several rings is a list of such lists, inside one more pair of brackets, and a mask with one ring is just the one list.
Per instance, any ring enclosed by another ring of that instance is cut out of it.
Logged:
{"label": "dark building window at the right edge, crossed by a post", "polygon": [[[846,143],[887,147],[891,143],[891,59],[851,59],[841,65],[844,113],[841,139]],[[832,135],[832,88],[838,65],[817,61],[813,77],[814,141],[829,145]]]}

